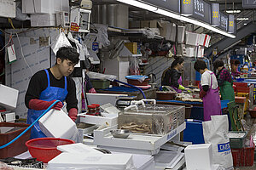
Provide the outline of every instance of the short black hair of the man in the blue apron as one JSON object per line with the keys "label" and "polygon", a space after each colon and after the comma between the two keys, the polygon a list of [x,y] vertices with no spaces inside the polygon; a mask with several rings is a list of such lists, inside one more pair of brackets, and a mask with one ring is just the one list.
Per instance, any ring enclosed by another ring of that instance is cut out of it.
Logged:
{"label": "short black hair of the man in the blue apron", "polygon": [[73,62],[73,64],[79,63],[79,53],[75,48],[71,48],[71,47],[59,48],[56,54],[56,59],[57,58],[60,58],[61,61],[63,61],[64,59],[69,59],[71,60],[71,62]]}

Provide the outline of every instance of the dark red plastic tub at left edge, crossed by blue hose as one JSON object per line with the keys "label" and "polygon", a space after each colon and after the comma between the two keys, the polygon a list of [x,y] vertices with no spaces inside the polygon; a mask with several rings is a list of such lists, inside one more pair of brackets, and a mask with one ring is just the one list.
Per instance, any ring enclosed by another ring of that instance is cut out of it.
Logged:
{"label": "dark red plastic tub at left edge, crossed by blue hose", "polygon": [[[9,143],[12,139],[15,139],[20,133],[22,133],[26,127],[29,127],[25,123],[13,123],[13,122],[0,122],[0,127],[22,127],[15,131],[10,131],[9,133],[0,133],[0,145]],[[30,138],[30,130],[24,133],[19,139],[14,143],[9,144],[9,146],[0,149],[0,158],[7,158],[17,156],[23,152],[26,152],[26,141]]]}

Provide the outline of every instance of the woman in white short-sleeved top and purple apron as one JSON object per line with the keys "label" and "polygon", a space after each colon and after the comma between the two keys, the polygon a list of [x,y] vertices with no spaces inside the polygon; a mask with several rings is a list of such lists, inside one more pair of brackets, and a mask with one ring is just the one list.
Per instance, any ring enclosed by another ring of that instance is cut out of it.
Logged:
{"label": "woman in white short-sleeved top and purple apron", "polygon": [[210,121],[211,116],[221,115],[218,82],[214,73],[207,69],[204,60],[197,59],[195,61],[194,69],[201,73],[200,97],[203,100],[204,121]]}

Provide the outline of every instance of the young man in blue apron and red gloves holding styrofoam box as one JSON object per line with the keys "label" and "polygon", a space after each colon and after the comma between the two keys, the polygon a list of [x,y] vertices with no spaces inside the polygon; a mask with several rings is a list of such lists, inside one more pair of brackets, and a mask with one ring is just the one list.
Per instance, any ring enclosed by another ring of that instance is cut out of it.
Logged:
{"label": "young man in blue apron and red gloves holding styrofoam box", "polygon": [[[38,116],[41,116],[55,100],[61,102],[56,103],[52,109],[60,111],[62,102],[66,100],[68,116],[73,121],[76,120],[78,114],[76,87],[73,79],[68,76],[73,72],[74,65],[78,63],[79,53],[75,48],[61,47],[57,51],[55,65],[32,76],[25,96],[28,124],[32,124]],[[36,122],[31,130],[31,139],[44,137],[46,136]]]}

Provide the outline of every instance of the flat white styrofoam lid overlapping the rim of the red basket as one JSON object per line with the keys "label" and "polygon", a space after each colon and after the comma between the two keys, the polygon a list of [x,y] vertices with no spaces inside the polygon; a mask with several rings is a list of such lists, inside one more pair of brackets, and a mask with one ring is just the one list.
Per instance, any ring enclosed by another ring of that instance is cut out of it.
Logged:
{"label": "flat white styrofoam lid overlapping the rim of the red basket", "polygon": [[68,153],[96,153],[103,155],[101,151],[95,150],[92,147],[82,143],[60,145],[57,146],[57,150],[61,150],[62,152]]}

